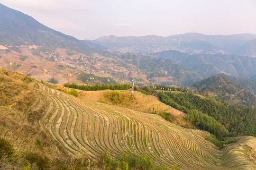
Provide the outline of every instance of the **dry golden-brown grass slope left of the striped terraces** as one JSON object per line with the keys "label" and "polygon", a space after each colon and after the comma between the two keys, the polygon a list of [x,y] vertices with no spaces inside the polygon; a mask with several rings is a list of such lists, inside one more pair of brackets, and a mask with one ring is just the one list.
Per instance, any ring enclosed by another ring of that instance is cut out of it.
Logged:
{"label": "dry golden-brown grass slope left of the striped terraces", "polygon": [[[39,126],[47,101],[37,89],[28,76],[0,68],[0,137],[15,149],[12,160],[0,159],[0,169],[21,170],[28,165],[26,153],[49,158],[49,170],[57,170],[58,165],[73,167],[78,158],[87,159],[82,154],[70,155]],[[31,169],[37,170],[36,163],[32,163]]]}

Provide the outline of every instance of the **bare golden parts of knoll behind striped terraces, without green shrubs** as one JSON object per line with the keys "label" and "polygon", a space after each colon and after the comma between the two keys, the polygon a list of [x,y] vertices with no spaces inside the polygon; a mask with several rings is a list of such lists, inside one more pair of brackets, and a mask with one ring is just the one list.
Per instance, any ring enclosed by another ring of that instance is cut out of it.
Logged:
{"label": "bare golden parts of knoll behind striped terraces, without green shrubs", "polygon": [[[61,88],[64,90],[69,91],[70,88],[67,87],[63,87],[61,85],[53,85],[56,88]],[[119,90],[119,91],[112,91],[112,90],[100,90],[100,91],[82,91],[82,90],[77,90],[78,92],[78,97],[83,98],[83,99],[89,99],[92,101],[99,101],[99,100],[103,100],[104,102],[111,102],[109,101],[110,97],[106,97],[106,93],[113,93],[113,92],[118,92],[120,94],[123,94],[123,97],[126,97],[129,95],[128,91],[124,91],[124,90]],[[123,103],[120,103],[119,105],[122,105]],[[129,108],[129,109],[133,109],[133,110],[137,110],[137,111],[141,111],[141,112],[152,112],[153,109],[156,112],[168,112],[171,113],[174,116],[177,115],[184,115],[184,113],[182,111],[176,110],[174,108],[172,108],[171,106],[160,102],[158,100],[157,97],[152,96],[152,95],[146,95],[140,92],[135,91],[134,92],[134,96],[132,97],[132,99],[123,104],[122,106]]]}

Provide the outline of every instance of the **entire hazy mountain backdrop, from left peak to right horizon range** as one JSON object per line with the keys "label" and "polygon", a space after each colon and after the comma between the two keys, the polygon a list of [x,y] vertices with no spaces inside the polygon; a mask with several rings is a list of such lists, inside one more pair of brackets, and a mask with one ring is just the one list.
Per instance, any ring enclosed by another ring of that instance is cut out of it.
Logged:
{"label": "entire hazy mountain backdrop, from left peak to right horizon range", "polygon": [[[219,73],[256,82],[256,58],[228,55],[235,51],[240,55],[254,56],[255,43],[256,35],[253,34],[198,33],[168,37],[105,36],[93,41],[82,41],[46,27],[34,18],[0,4],[2,67],[7,67],[6,63],[13,59],[17,62],[13,67],[15,70],[32,74],[31,76],[37,79],[47,77],[44,79],[46,81],[53,77],[58,81],[65,81],[62,77],[67,73],[60,71],[65,70],[74,71],[75,76],[87,71],[100,73],[101,76],[112,76],[119,81],[137,79],[147,84],[162,85],[189,85]],[[37,47],[28,47],[33,45]],[[25,46],[29,51],[23,53]],[[175,51],[163,51],[168,49]],[[152,53],[153,51],[161,52]],[[3,56],[8,56],[8,59]],[[27,63],[29,68],[24,67],[25,65],[21,67],[21,62],[23,65]],[[39,64],[38,68],[33,66],[32,69],[31,63]],[[60,67],[55,67],[57,63]],[[46,67],[49,70],[48,74],[52,75],[38,75],[41,71],[37,69]],[[50,70],[52,68],[54,70]]]}

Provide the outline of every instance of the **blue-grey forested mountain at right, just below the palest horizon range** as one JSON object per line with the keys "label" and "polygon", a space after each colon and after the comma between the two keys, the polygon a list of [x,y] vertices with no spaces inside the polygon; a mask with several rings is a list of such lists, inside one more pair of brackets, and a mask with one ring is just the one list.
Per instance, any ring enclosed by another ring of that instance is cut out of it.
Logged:
{"label": "blue-grey forested mountain at right, just below the palest horizon range", "polygon": [[153,57],[171,59],[186,68],[192,68],[205,77],[219,73],[248,79],[256,74],[256,58],[224,55],[224,54],[197,54],[188,55],[176,51],[162,51],[150,54]]}

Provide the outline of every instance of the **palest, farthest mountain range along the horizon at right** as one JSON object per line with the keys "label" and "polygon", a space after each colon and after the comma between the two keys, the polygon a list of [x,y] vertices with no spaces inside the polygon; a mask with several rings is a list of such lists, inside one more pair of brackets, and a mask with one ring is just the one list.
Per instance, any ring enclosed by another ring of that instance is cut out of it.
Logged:
{"label": "palest, farthest mountain range along the horizon at right", "polygon": [[205,35],[186,33],[167,37],[156,35],[117,37],[110,35],[90,42],[121,52],[140,54],[175,50],[188,54],[220,53],[256,57],[255,34]]}

